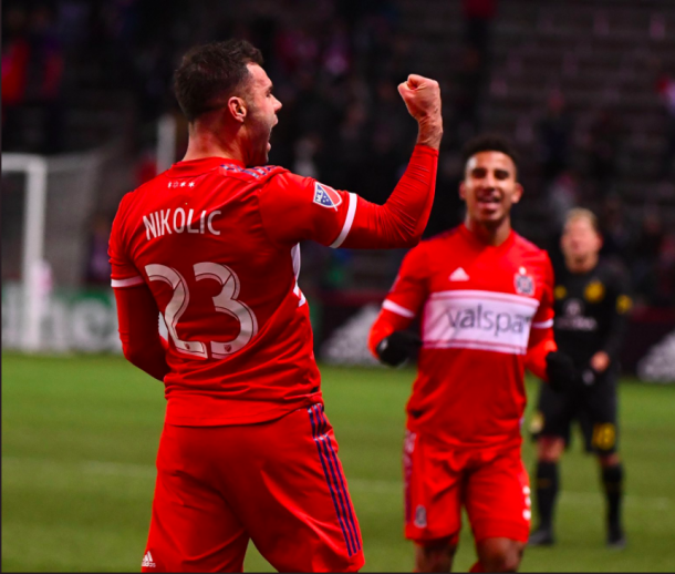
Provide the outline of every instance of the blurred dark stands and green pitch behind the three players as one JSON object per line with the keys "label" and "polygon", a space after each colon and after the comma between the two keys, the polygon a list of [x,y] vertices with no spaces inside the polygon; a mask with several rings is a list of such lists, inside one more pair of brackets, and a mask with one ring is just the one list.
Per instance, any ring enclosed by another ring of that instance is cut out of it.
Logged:
{"label": "blurred dark stands and green pitch behind the three players", "polygon": [[[6,0],[2,570],[138,566],[164,401],[115,356],[107,235],[122,195],[185,150],[169,89],[177,58],[231,35],[262,50],[283,103],[271,163],[385,201],[416,130],[396,84],[416,72],[437,79],[444,100],[427,235],[461,221],[459,150],[485,130],[518,145],[526,196],[515,227],[553,258],[567,208],[599,214],[603,255],[635,290],[622,352],[630,547],[602,547],[595,471],[577,449],[563,463],[560,544],[529,552],[523,568],[672,571],[675,387],[644,385],[675,380],[669,0]],[[7,167],[15,154],[45,165],[43,257],[30,269],[29,178]],[[308,244],[302,254],[318,355],[372,363],[365,334],[404,252]],[[20,352],[28,284],[40,304],[31,348],[49,357]],[[398,463],[414,373],[326,367],[324,376],[366,570],[405,571],[412,549],[401,537]],[[463,546],[460,567],[470,564],[470,544]],[[249,567],[264,568],[257,560]]]}

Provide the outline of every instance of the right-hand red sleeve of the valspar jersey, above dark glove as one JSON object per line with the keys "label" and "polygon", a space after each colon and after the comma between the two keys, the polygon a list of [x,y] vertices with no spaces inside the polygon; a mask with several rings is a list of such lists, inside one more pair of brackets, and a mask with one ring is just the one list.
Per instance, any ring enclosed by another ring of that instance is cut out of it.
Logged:
{"label": "right-hand red sleeve of the valspar jersey, above dark glove", "polygon": [[532,319],[526,357],[526,367],[543,380],[547,380],[546,357],[549,352],[558,350],[553,337],[553,267],[551,266],[551,259],[546,255],[541,300]]}

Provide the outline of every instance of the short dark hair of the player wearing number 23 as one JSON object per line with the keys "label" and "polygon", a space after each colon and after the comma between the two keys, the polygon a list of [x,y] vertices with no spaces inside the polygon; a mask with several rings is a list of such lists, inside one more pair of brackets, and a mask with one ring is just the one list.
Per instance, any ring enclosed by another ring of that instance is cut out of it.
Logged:
{"label": "short dark hair of the player wearing number 23", "polygon": [[211,42],[189,50],[174,74],[174,91],[188,122],[216,110],[248,80],[247,64],[262,65],[260,50],[246,40]]}

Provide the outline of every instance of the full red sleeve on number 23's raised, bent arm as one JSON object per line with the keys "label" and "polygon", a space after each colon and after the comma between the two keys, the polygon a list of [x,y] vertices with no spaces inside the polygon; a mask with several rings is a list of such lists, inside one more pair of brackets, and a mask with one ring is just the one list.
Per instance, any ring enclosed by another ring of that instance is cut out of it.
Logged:
{"label": "full red sleeve on number 23's raised, bent arm", "polygon": [[313,239],[331,247],[412,247],[434,203],[437,163],[436,150],[417,145],[384,205],[311,177],[278,174],[260,194],[263,226],[272,239],[290,245]]}

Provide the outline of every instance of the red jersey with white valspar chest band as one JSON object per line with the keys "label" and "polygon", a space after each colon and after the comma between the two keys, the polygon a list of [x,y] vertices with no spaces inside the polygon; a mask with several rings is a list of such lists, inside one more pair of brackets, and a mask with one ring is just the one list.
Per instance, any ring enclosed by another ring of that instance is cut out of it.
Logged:
{"label": "red jersey with white valspar chest band", "polygon": [[515,232],[492,247],[460,225],[412,249],[373,327],[422,312],[408,428],[449,445],[519,441],[530,329],[551,329],[552,289],[547,253]]}

